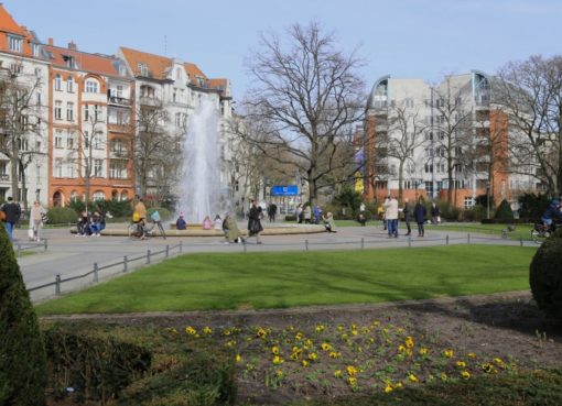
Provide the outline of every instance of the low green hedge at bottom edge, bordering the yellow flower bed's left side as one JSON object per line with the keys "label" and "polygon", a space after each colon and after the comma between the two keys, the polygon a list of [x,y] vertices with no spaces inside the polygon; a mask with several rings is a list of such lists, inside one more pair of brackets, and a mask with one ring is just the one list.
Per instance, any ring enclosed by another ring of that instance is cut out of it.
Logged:
{"label": "low green hedge at bottom edge, bordering the yellow flower bed's left side", "polygon": [[236,399],[234,354],[198,351],[185,361],[147,376],[125,391],[120,406],[219,406]]}

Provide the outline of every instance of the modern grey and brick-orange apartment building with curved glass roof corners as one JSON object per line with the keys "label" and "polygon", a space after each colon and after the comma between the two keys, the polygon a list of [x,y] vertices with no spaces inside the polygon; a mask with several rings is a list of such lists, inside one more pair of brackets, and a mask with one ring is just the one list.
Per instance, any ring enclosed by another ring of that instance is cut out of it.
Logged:
{"label": "modern grey and brick-orange apartment building with curved glass roof corners", "polygon": [[517,194],[514,185],[529,186],[509,173],[507,114],[491,102],[490,81],[479,70],[437,85],[377,80],[364,124],[366,196],[398,195],[401,184],[403,197],[468,208],[479,195],[500,201]]}

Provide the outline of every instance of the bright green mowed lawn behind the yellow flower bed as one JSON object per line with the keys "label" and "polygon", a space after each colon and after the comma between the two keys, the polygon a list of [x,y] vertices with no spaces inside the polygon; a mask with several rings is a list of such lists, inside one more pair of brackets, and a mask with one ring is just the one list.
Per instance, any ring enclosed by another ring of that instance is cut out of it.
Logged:
{"label": "bright green mowed lawn behind the yellow flower bed", "polygon": [[529,288],[536,248],[188,254],[37,306],[40,315],[366,304]]}

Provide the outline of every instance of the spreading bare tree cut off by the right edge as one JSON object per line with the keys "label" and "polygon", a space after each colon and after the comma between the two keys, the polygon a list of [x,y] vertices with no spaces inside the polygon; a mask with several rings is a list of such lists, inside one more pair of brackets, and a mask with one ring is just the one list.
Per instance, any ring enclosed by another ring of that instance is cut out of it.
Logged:
{"label": "spreading bare tree cut off by the right edge", "polygon": [[562,56],[510,62],[494,81],[494,101],[509,117],[511,171],[538,178],[551,196],[562,193]]}

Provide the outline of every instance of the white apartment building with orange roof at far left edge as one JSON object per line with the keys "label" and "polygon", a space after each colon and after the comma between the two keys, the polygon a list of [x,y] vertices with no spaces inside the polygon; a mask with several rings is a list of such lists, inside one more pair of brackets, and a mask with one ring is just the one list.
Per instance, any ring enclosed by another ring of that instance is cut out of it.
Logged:
{"label": "white apartment building with orange roof at far left edge", "polygon": [[0,3],[0,201],[48,200],[47,80],[37,36]]}

